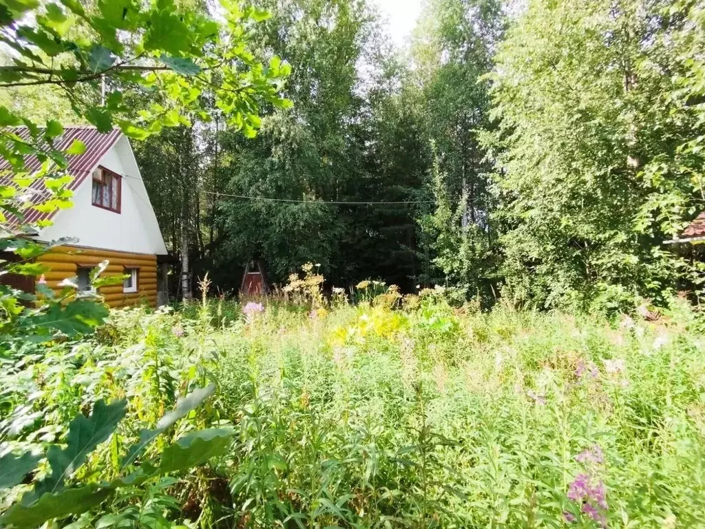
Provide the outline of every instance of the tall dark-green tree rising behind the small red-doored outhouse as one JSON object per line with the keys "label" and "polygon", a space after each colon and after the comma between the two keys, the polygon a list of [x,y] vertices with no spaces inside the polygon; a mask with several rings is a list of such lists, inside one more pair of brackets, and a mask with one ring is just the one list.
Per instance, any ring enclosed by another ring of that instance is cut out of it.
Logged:
{"label": "tall dark-green tree rising behind the small red-doored outhouse", "polygon": [[272,110],[253,141],[221,135],[228,194],[302,202],[226,197],[220,203],[228,238],[221,269],[262,257],[274,279],[302,262],[344,274],[338,260],[349,213],[320,200],[341,201],[360,178],[357,131],[362,98],[357,63],[367,41],[369,12],[360,0],[268,0],[272,17],[257,32],[259,49],[292,66],[286,95],[295,107]]}

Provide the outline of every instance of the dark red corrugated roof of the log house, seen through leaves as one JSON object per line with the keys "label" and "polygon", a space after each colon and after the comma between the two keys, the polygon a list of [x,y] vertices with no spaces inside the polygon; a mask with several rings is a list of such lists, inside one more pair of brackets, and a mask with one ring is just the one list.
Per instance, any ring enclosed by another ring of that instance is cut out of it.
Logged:
{"label": "dark red corrugated roof of the log house, seen through leaves", "polygon": [[[30,139],[30,131],[27,127],[12,127],[11,130],[13,133],[20,136],[20,138],[25,140]],[[113,129],[108,133],[100,133],[97,128],[89,125],[64,127],[63,133],[59,137],[54,138],[55,149],[66,150],[71,146],[73,140],[80,140],[85,143],[86,146],[86,150],[83,154],[66,156],[68,174],[73,176],[73,181],[68,185],[70,190],[76,190],[78,186],[80,186],[103,155],[115,145],[115,142],[120,138],[121,134],[121,131],[118,129]],[[34,155],[27,156],[25,157],[25,167],[27,171],[38,171],[42,167],[42,162],[39,162],[39,159]],[[0,175],[11,169],[12,166],[5,159],[0,159]],[[11,177],[0,176],[0,185],[9,186],[12,185],[12,183]],[[29,189],[35,191],[35,193],[32,193],[30,196],[30,202],[32,202],[32,204],[39,204],[39,202],[45,199],[46,195],[44,193],[46,188],[44,187],[44,181],[35,180],[29,186]],[[51,217],[54,217],[54,214],[56,214],[56,212],[42,213],[38,212],[36,209],[28,208],[25,211],[25,221],[37,222],[51,219]],[[13,221],[16,222],[17,219],[8,219],[8,221],[13,223]]]}

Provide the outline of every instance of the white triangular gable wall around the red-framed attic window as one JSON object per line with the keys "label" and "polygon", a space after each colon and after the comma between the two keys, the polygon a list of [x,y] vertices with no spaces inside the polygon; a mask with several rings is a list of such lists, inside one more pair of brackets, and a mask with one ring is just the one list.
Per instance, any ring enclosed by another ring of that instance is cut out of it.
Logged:
{"label": "white triangular gable wall around the red-framed attic window", "polygon": [[74,191],[73,207],[54,216],[54,224],[39,233],[39,240],[73,237],[89,248],[119,252],[166,254],[157,217],[149,204],[145,184],[137,168],[130,142],[121,136],[98,163],[123,176],[121,212],[92,205],[92,177],[87,176]]}

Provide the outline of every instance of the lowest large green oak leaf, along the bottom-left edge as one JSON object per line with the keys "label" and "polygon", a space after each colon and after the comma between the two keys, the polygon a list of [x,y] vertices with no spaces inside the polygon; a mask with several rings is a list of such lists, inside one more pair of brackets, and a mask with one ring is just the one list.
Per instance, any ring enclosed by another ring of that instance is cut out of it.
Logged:
{"label": "lowest large green oak leaf, along the bottom-left edge", "polygon": [[92,483],[58,493],[42,494],[42,497],[32,504],[21,501],[11,506],[0,518],[0,525],[12,525],[17,528],[39,527],[47,520],[85,513],[101,504],[112,493],[112,490],[99,489],[98,485]]}

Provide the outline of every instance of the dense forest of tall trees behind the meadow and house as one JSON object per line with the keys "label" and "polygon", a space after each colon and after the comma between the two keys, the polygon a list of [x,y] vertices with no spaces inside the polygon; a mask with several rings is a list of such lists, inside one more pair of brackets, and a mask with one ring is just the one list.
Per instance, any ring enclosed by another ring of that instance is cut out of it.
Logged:
{"label": "dense forest of tall trees behind the meadow and house", "polygon": [[274,283],[314,262],[482,305],[697,295],[703,263],[663,241],[705,208],[702,4],[427,0],[404,49],[369,1],[259,5],[293,107],[247,138],[205,95],[197,126],[133,142],[192,284],[234,293],[257,258]]}

